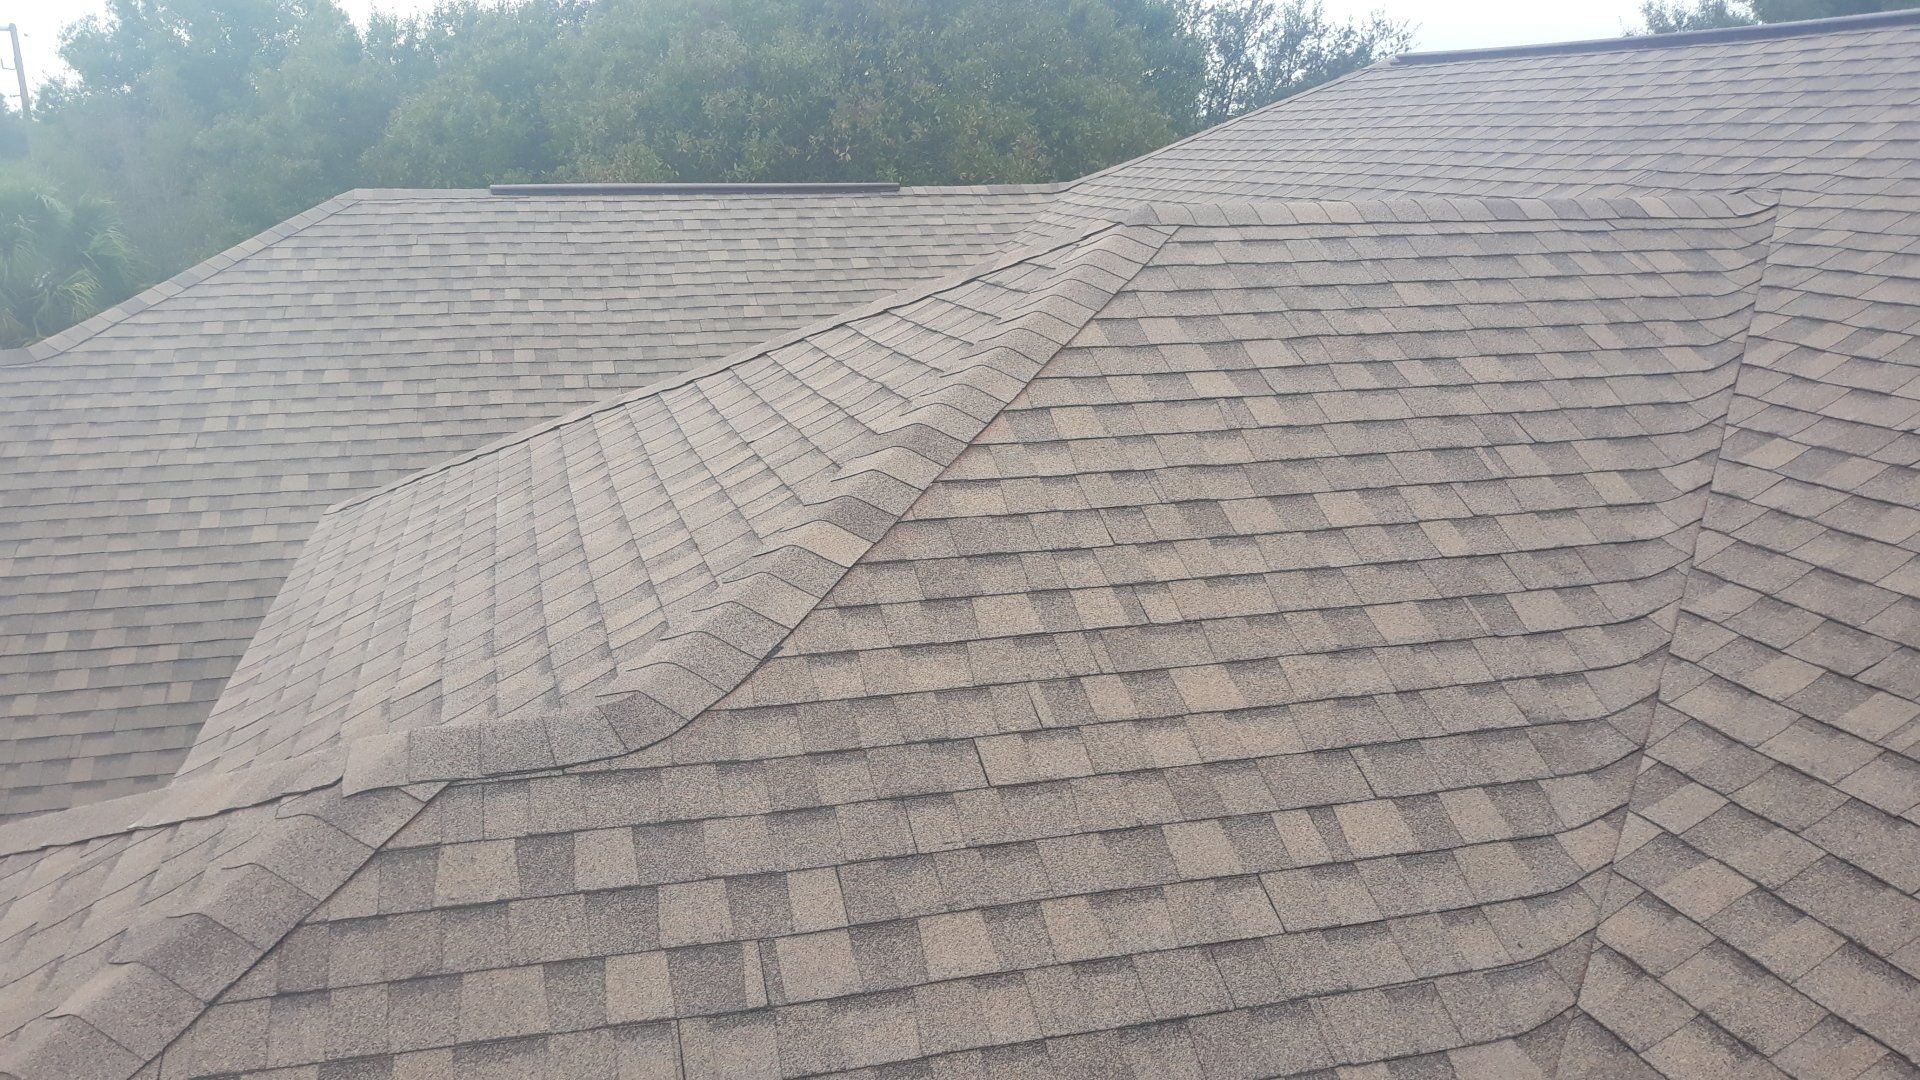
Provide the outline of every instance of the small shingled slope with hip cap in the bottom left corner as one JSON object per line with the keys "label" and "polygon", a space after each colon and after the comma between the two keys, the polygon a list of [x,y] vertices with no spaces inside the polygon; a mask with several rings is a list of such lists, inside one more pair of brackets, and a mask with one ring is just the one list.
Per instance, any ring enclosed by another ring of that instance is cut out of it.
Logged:
{"label": "small shingled slope with hip cap in the bottom left corner", "polygon": [[430,794],[296,794],[6,855],[0,1070],[131,1076]]}

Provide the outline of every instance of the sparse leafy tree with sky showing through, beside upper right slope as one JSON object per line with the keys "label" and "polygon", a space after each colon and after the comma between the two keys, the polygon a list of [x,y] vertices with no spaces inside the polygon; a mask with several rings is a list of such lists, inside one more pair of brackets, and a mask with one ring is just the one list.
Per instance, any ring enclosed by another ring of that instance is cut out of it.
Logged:
{"label": "sparse leafy tree with sky showing through, beside upper right slope", "polygon": [[[1711,0],[1709,0],[1711,2]],[[1185,0],[1206,48],[1200,125],[1298,94],[1413,44],[1413,27],[1375,12],[1334,23],[1321,0]]]}

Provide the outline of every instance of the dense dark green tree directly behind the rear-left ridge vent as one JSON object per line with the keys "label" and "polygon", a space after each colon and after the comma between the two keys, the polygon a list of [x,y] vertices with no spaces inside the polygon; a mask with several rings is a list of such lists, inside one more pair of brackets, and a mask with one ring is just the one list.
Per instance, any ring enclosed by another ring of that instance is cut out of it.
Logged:
{"label": "dense dark green tree directly behind the rear-left ridge vent", "polygon": [[1173,138],[1167,4],[601,0],[545,88],[570,179],[1021,183]]}

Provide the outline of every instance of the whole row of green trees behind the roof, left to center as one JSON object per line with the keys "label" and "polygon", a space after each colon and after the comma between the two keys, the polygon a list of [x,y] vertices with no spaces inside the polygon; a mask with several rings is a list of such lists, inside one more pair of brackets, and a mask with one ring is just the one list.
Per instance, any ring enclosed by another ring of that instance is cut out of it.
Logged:
{"label": "whole row of green trees behind the roof, left to center", "polygon": [[353,186],[1069,179],[1409,37],[1317,0],[108,0],[25,127],[169,275]]}

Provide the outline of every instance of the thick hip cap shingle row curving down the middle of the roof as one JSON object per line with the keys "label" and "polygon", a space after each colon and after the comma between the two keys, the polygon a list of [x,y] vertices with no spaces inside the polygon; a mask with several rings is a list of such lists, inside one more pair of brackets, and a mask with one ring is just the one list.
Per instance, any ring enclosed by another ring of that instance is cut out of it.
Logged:
{"label": "thick hip cap shingle row curving down the middle of the roof", "polygon": [[[952,402],[954,398],[964,400],[983,394],[979,386],[966,380],[948,382],[933,390],[925,402],[914,404],[914,411],[920,411],[945,402],[950,405],[950,411],[968,417],[966,427],[972,430],[943,429],[950,436],[950,444],[937,450],[943,459],[925,457],[922,448],[910,446],[906,440],[889,440],[887,434],[891,432],[874,432],[874,444],[862,448],[862,454],[851,457],[847,463],[851,467],[899,444],[925,461],[924,467],[914,469],[924,480],[912,482],[866,467],[835,469],[833,477],[822,480],[818,494],[810,502],[803,502],[789,521],[766,536],[764,548],[741,563],[745,573],[720,582],[680,628],[672,630],[641,657],[639,665],[622,671],[611,690],[597,694],[591,701],[563,705],[561,709],[526,719],[363,736],[346,748],[342,790],[355,794],[422,780],[470,780],[511,773],[540,773],[626,757],[647,749],[693,723],[774,655],[780,642],[818,607],[841,577],[912,509],[933,479],[945,473],[979,438],[979,432],[1025,390],[1033,375],[1039,375],[1046,361],[1106,309],[1112,298],[1152,261],[1152,256],[1160,252],[1160,246],[1173,233],[1175,229],[1160,225],[1106,223],[1083,234],[1077,242],[1091,240],[1089,250],[1075,263],[1060,269],[1060,281],[1035,290],[1037,296],[1050,294],[1068,281],[1085,281],[1089,275],[1112,275],[1096,259],[1102,252],[1117,246],[1121,238],[1144,244],[1146,252],[1131,258],[1127,273],[1117,282],[1102,288],[1104,296],[1098,307],[1089,307],[1071,327],[1064,327],[1052,336],[1035,331],[1031,323],[1048,319],[1058,325],[1060,317],[1033,306],[975,344],[973,352],[977,356],[995,352],[1021,356],[1029,369],[1025,379],[1012,379],[1018,386],[998,396],[991,409],[968,411],[962,407],[964,402]],[[1069,244],[1052,244],[1041,252],[1010,259],[1006,265],[1031,261],[1041,254],[1064,246]],[[1050,348],[1044,350],[1044,356],[1029,356],[1004,342],[1004,338],[1021,332],[1037,334],[1050,342]],[[1006,377],[1004,371],[1000,375]],[[906,423],[893,429],[893,432],[908,432],[916,427],[922,427],[922,423]],[[866,509],[860,511],[856,507]],[[876,523],[874,511],[877,511],[883,523]],[[828,528],[816,528],[820,525]],[[785,575],[804,577],[804,584]],[[756,642],[753,651],[739,648],[730,640],[730,634],[722,632],[726,623],[737,623],[747,617],[755,621],[758,642],[764,642],[764,646]]]}

